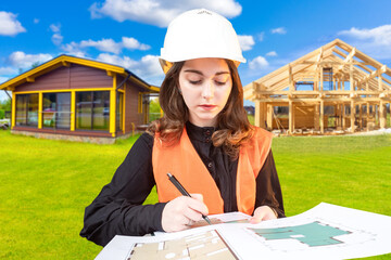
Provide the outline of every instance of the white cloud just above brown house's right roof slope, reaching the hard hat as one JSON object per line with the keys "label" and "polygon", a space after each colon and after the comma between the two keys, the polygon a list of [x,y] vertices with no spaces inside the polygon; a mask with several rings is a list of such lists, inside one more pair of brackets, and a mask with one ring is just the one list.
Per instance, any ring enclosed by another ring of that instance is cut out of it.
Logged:
{"label": "white cloud just above brown house's right roof slope, reaching the hard hat", "polygon": [[141,60],[136,61],[128,56],[101,53],[97,57],[97,61],[123,66],[144,79],[147,82],[163,79],[164,77],[162,67],[159,63],[159,56],[155,55],[146,55],[141,57]]}

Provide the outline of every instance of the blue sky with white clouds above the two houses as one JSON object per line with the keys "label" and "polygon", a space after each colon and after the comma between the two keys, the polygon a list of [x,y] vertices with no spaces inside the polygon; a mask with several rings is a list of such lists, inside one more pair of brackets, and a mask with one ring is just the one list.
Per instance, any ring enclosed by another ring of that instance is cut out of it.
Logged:
{"label": "blue sky with white clouds above the two houses", "polygon": [[336,38],[391,66],[389,0],[3,0],[0,82],[65,53],[118,64],[160,86],[166,26],[194,8],[232,23],[248,60],[239,66],[243,86]]}

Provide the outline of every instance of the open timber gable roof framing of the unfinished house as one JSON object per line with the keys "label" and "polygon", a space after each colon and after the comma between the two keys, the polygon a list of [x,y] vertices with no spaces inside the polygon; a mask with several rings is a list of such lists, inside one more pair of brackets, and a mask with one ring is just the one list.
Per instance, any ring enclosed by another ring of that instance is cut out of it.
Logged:
{"label": "open timber gable roof framing of the unfinished house", "polygon": [[320,66],[331,68],[335,79],[350,81],[351,64],[353,81],[356,86],[363,87],[368,83],[369,90],[378,90],[379,81],[381,81],[384,90],[391,90],[390,68],[346,42],[336,39],[247,84],[244,99],[255,100],[258,91],[287,90],[292,81],[317,81],[315,78]]}

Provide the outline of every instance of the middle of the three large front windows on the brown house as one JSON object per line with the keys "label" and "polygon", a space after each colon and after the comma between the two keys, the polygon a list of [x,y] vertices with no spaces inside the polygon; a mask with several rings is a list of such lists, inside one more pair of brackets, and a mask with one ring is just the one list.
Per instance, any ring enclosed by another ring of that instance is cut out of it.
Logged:
{"label": "middle of the three large front windows on the brown house", "polygon": [[71,128],[71,93],[43,94],[43,127]]}

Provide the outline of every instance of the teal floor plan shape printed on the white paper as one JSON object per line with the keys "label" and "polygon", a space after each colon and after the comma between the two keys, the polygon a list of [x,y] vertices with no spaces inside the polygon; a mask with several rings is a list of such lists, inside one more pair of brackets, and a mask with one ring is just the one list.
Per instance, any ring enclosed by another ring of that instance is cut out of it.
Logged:
{"label": "teal floor plan shape printed on the white paper", "polygon": [[297,226],[249,230],[265,237],[267,240],[293,238],[311,247],[341,244],[343,242],[335,239],[333,237],[351,233],[327,224],[321,224],[317,221]]}

